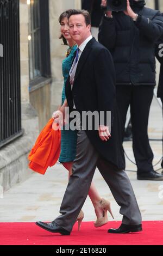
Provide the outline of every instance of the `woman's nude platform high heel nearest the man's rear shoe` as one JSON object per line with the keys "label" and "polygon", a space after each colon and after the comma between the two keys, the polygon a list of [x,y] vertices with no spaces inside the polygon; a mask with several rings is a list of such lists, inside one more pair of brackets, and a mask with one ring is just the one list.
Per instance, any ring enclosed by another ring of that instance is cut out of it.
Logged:
{"label": "woman's nude platform high heel nearest the man's rear shoe", "polygon": [[103,210],[103,216],[100,218],[97,218],[96,222],[94,223],[95,228],[99,228],[102,227],[103,225],[108,223],[108,216],[107,216],[107,211],[110,212],[112,218],[114,218],[114,216],[112,215],[112,211],[110,208],[110,202],[105,200],[104,198],[102,198],[98,203],[97,206],[95,208],[95,210],[97,208],[101,208]]}

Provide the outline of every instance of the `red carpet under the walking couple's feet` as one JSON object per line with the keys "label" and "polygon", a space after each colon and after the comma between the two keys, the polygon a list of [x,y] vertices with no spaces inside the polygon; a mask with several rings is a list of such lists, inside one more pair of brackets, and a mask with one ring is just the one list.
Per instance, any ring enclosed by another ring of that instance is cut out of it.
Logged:
{"label": "red carpet under the walking couple's feet", "polygon": [[163,245],[163,221],[144,221],[143,231],[130,234],[108,234],[121,222],[109,222],[94,228],[93,222],[77,223],[70,236],[61,236],[43,230],[35,223],[0,223],[0,245]]}

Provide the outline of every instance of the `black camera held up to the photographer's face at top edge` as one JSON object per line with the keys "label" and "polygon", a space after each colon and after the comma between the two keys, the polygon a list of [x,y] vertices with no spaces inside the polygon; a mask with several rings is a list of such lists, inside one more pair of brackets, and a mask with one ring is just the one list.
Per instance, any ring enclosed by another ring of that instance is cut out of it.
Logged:
{"label": "black camera held up to the photographer's face at top edge", "polygon": [[126,0],[107,0],[106,10],[108,11],[124,11],[126,9]]}

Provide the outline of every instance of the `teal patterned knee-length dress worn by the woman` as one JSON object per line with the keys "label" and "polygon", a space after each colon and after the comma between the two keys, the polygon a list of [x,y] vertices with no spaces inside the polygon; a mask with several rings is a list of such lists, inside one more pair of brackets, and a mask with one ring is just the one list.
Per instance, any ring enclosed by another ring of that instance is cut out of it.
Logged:
{"label": "teal patterned knee-length dress worn by the woman", "polygon": [[[72,60],[74,53],[77,50],[77,46],[69,47],[71,52],[62,62],[62,74],[64,76],[64,87],[62,89],[62,104],[66,99],[65,84],[69,76],[69,72],[72,66]],[[61,130],[61,153],[59,162],[72,162],[76,157],[76,145],[77,145],[77,131],[65,131]]]}

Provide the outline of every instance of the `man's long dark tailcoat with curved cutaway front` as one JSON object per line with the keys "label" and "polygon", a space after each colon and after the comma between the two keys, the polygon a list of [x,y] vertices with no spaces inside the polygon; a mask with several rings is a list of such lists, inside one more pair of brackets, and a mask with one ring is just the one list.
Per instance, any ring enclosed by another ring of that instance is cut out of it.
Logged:
{"label": "man's long dark tailcoat with curved cutaway front", "polygon": [[95,38],[91,39],[80,56],[73,89],[70,78],[65,87],[66,99],[77,111],[111,111],[111,138],[103,142],[98,131],[87,130],[87,136],[105,160],[124,169],[124,155],[120,136],[120,122],[115,100],[115,70],[110,52]]}

